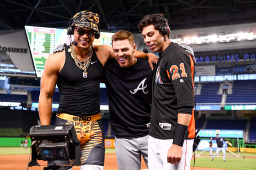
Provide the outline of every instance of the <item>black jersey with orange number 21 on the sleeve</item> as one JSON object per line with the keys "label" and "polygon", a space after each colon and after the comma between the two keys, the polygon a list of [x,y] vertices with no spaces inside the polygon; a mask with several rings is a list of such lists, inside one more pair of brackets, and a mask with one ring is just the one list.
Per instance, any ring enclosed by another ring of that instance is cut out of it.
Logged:
{"label": "black jersey with orange number 21 on the sleeve", "polygon": [[159,54],[154,72],[149,135],[173,139],[178,113],[185,113],[192,114],[186,139],[195,137],[193,78],[193,59],[183,48],[171,43]]}

